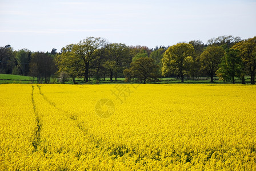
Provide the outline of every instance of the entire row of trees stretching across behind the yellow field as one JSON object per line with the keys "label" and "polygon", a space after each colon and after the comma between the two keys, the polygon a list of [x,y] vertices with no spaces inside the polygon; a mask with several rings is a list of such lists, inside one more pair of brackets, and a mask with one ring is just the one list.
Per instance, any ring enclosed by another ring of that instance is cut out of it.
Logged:
{"label": "entire row of trees stretching across behind the yellow field", "polygon": [[50,79],[65,83],[70,78],[126,82],[157,82],[162,77],[196,79],[214,76],[226,82],[250,76],[255,84],[256,36],[242,40],[234,36],[177,43],[170,47],[126,46],[109,43],[103,38],[89,37],[76,44],[63,47],[61,52],[14,51],[10,45],[0,47],[0,73],[29,75],[37,83],[50,83]]}

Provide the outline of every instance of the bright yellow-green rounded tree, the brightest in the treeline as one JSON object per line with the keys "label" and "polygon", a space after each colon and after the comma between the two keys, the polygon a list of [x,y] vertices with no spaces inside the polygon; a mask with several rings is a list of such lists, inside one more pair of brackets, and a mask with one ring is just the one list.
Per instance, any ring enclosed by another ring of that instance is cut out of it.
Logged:
{"label": "bright yellow-green rounded tree, the brightest in the treeline", "polygon": [[178,74],[181,77],[181,82],[184,82],[184,75],[189,71],[191,56],[194,56],[194,47],[188,43],[178,43],[169,47],[162,59],[162,74],[167,76],[170,73]]}

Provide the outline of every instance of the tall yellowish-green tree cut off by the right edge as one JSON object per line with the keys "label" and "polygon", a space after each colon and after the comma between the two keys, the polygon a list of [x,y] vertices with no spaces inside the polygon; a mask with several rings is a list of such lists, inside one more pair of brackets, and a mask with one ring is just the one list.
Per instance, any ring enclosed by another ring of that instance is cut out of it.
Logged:
{"label": "tall yellowish-green tree cut off by the right edge", "polygon": [[[240,51],[245,72],[251,76],[251,84],[255,84],[256,70],[256,36],[251,39],[243,40],[233,46]],[[244,77],[243,77],[244,80]]]}

